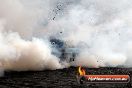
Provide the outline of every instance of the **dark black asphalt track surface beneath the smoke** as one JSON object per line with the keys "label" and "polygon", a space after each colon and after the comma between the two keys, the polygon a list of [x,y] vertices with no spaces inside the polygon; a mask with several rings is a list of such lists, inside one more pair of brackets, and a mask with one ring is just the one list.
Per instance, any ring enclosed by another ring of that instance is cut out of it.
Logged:
{"label": "dark black asphalt track surface beneath the smoke", "polygon": [[[87,74],[129,74],[131,68],[84,68]],[[6,71],[0,77],[0,88],[132,88],[132,82],[121,84],[78,84],[77,67],[44,71]],[[131,78],[132,79],[132,78]]]}

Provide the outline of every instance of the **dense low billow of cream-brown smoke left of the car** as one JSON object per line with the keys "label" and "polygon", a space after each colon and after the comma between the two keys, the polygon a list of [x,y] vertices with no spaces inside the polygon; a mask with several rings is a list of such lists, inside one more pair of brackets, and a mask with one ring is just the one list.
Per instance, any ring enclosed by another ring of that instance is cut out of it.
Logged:
{"label": "dense low billow of cream-brown smoke left of the car", "polygon": [[5,70],[43,70],[62,68],[59,59],[51,55],[47,41],[23,40],[17,33],[0,34],[0,64]]}

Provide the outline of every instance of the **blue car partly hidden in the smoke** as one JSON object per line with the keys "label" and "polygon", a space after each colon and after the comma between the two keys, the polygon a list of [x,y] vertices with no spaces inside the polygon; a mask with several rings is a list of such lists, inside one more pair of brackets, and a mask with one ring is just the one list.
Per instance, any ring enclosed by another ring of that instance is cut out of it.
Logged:
{"label": "blue car partly hidden in the smoke", "polygon": [[76,47],[69,47],[64,41],[60,39],[51,38],[52,54],[60,58],[61,61],[72,62],[79,54],[79,49]]}

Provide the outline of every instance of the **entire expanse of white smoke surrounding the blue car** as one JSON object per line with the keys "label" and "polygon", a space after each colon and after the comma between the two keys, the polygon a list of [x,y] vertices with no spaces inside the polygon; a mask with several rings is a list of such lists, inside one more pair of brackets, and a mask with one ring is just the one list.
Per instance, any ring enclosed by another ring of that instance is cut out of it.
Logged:
{"label": "entire expanse of white smoke surrounding the blue car", "polygon": [[130,0],[0,0],[0,66],[65,67],[52,54],[52,36],[79,49],[70,65],[131,67],[131,8]]}

